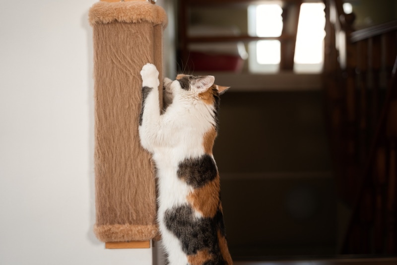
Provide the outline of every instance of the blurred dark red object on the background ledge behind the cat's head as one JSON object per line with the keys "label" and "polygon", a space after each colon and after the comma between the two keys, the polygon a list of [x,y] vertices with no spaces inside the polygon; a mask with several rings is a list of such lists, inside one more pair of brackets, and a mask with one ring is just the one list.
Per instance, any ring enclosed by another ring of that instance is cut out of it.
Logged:
{"label": "blurred dark red object on the background ledge behind the cat's head", "polygon": [[188,65],[193,71],[240,72],[244,60],[240,56],[190,52]]}

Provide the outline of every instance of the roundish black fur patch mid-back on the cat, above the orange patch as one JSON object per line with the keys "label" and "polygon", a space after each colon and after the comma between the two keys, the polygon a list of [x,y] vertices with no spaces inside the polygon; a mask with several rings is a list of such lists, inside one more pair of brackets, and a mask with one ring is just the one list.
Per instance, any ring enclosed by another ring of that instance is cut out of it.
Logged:
{"label": "roundish black fur patch mid-back on the cat, above the orange patch", "polygon": [[218,174],[214,160],[208,154],[198,158],[186,158],[179,163],[178,178],[195,189],[215,179]]}

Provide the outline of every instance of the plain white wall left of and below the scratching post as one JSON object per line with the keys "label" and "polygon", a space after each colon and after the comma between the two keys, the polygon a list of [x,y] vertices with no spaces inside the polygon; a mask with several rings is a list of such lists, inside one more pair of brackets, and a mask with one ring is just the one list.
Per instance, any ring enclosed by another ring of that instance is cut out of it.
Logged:
{"label": "plain white wall left of and below the scratching post", "polygon": [[1,265],[152,264],[92,232],[94,2],[1,2]]}

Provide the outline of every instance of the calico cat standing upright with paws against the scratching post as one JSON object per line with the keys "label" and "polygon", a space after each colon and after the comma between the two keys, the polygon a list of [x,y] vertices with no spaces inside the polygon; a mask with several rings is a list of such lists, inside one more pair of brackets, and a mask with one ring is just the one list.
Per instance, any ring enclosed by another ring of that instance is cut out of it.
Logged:
{"label": "calico cat standing upright with paws against the scratching post", "polygon": [[156,165],[158,224],[168,262],[231,265],[212,156],[219,95],[228,87],[215,85],[213,76],[165,78],[168,106],[161,114],[156,67],[147,64],[140,74],[139,136]]}

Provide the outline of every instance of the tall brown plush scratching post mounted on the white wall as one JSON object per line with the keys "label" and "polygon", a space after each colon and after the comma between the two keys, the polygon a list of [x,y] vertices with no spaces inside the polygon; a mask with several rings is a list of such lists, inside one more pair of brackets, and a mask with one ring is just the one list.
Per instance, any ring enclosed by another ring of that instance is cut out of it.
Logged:
{"label": "tall brown plush scratching post mounted on the white wall", "polygon": [[158,234],[156,188],[150,155],[139,143],[139,72],[152,63],[162,76],[167,17],[146,0],[103,0],[91,7],[89,21],[94,38],[94,231],[111,247],[118,246],[111,242],[148,241]]}

